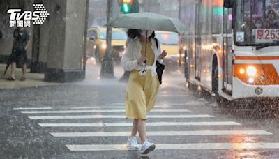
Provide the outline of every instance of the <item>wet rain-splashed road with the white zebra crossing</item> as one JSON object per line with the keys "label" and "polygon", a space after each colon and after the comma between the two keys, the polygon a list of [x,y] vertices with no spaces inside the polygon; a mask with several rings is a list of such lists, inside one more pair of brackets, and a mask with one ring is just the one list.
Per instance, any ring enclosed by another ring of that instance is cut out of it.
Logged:
{"label": "wet rain-splashed road with the white zebra crossing", "polygon": [[99,70],[88,66],[84,82],[1,91],[1,158],[279,158],[270,103],[220,106],[188,91],[178,72],[165,74],[148,114],[156,150],[128,151],[122,70],[116,66],[116,78],[102,80]]}

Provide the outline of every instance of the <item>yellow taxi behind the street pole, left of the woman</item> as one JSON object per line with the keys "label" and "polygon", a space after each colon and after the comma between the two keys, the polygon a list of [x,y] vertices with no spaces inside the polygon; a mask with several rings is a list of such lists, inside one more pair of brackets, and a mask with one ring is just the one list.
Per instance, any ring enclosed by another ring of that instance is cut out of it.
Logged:
{"label": "yellow taxi behind the street pole, left of the woman", "polygon": [[[91,27],[88,29],[88,47],[87,47],[87,56],[93,56],[96,59],[97,63],[105,56],[107,49],[106,44],[106,27]],[[126,40],[127,34],[122,29],[112,28],[112,51],[110,56],[114,61],[120,61],[123,52],[126,49]],[[93,47],[93,48],[92,48]]]}

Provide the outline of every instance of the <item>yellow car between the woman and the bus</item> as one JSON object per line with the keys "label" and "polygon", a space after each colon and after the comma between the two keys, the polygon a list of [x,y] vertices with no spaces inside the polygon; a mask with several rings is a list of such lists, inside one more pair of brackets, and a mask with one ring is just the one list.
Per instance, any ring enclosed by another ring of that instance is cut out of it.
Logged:
{"label": "yellow car between the woman and the bus", "polygon": [[179,35],[168,31],[155,31],[156,38],[160,41],[161,50],[166,50],[164,59],[166,69],[175,71],[179,68]]}

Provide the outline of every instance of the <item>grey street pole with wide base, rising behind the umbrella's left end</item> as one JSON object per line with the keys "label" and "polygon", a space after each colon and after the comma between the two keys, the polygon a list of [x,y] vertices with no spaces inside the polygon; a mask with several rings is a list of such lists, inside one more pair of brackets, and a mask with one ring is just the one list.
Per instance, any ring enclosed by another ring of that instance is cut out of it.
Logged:
{"label": "grey street pole with wide base, rising behind the umbrella's left end", "polygon": [[[112,18],[112,0],[107,0],[107,22]],[[107,27],[107,49],[101,62],[100,77],[114,77],[114,66],[110,52],[112,50],[112,27]]]}

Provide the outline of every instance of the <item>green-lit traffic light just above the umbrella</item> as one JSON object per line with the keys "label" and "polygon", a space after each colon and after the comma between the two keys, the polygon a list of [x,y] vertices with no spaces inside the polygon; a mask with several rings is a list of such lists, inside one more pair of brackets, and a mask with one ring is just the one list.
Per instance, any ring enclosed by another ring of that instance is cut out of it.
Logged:
{"label": "green-lit traffic light just above the umbrella", "polygon": [[127,13],[137,13],[140,11],[140,6],[138,0],[120,0],[121,12]]}

